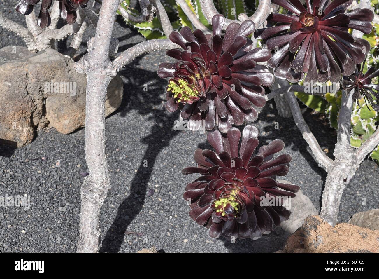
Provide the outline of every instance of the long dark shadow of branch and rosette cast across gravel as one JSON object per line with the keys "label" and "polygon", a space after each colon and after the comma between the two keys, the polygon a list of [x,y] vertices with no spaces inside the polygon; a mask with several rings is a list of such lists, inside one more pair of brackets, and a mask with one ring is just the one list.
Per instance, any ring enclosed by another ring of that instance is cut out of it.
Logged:
{"label": "long dark shadow of branch and rosette cast across gravel", "polygon": [[[101,253],[120,251],[124,242],[125,230],[143,208],[147,183],[152,175],[158,154],[163,148],[169,146],[171,139],[180,132],[172,129],[174,120],[179,119],[179,112],[169,113],[164,108],[154,108],[154,106],[160,106],[163,101],[158,98],[158,95],[159,92],[164,92],[166,81],[158,79],[155,72],[135,68],[138,61],[138,59],[133,61],[132,65],[120,72],[123,78],[128,79],[128,82],[124,80],[124,98],[117,112],[124,117],[128,111],[137,110],[140,115],[148,114],[148,119],[145,120],[152,121],[155,125],[152,126],[150,134],[141,139],[142,143],[147,144],[146,150],[130,184],[128,197],[119,205],[117,216],[104,237],[100,248]],[[131,72],[133,75],[129,75]],[[149,80],[149,90],[142,91],[141,84],[145,84],[146,80]],[[148,162],[147,167],[144,166],[145,160]]]}

